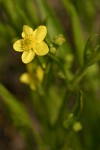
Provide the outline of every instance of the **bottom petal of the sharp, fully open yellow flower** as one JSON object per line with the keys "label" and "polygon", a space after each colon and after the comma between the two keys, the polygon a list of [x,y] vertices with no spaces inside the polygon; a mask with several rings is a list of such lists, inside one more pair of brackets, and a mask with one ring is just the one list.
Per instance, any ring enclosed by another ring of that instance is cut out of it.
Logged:
{"label": "bottom petal of the sharp, fully open yellow flower", "polygon": [[35,56],[35,53],[34,53],[33,50],[24,51],[23,54],[22,54],[23,63],[25,63],[25,64],[29,63],[30,61],[32,61],[34,56]]}

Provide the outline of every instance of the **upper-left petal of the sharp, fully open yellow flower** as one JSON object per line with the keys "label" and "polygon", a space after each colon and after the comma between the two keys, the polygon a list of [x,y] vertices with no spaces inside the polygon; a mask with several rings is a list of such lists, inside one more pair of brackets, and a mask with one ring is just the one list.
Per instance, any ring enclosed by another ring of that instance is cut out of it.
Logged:
{"label": "upper-left petal of the sharp, fully open yellow flower", "polygon": [[32,34],[33,34],[33,29],[30,28],[30,27],[27,26],[27,25],[24,25],[24,26],[23,26],[22,37],[23,37],[23,38],[27,38],[27,37],[31,36]]}

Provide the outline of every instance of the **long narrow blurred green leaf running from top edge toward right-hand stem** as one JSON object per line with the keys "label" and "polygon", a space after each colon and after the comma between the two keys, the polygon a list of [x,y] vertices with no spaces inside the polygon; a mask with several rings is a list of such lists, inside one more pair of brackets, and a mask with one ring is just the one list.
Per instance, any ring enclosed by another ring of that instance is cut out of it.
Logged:
{"label": "long narrow blurred green leaf running from top edge toward right-hand stem", "polygon": [[63,0],[63,5],[70,16],[71,26],[73,29],[73,38],[77,51],[77,58],[79,59],[80,65],[83,65],[83,52],[85,43],[79,16],[74,5],[69,0]]}

